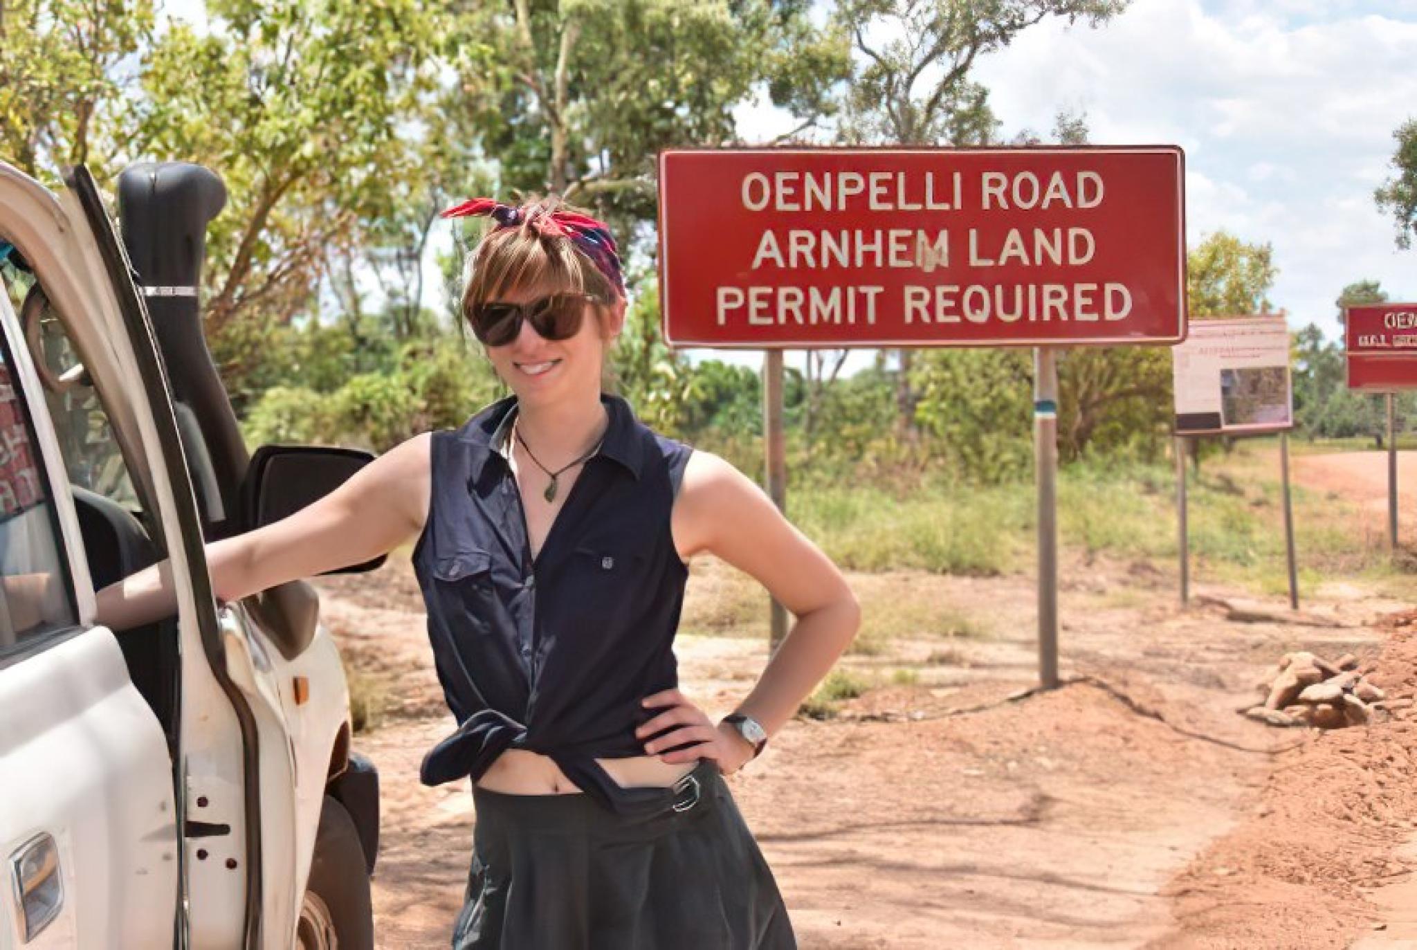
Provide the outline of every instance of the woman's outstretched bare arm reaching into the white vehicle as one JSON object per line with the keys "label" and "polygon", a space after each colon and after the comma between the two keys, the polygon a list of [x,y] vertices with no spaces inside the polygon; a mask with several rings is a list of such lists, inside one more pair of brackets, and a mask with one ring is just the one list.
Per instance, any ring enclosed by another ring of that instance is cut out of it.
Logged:
{"label": "woman's outstretched bare arm reaching into the white vehicle", "polygon": [[[241,600],[300,577],[393,550],[428,512],[431,435],[395,445],[320,501],[265,527],[207,544],[217,597]],[[171,566],[160,561],[98,591],[98,622],[126,630],[176,610]]]}

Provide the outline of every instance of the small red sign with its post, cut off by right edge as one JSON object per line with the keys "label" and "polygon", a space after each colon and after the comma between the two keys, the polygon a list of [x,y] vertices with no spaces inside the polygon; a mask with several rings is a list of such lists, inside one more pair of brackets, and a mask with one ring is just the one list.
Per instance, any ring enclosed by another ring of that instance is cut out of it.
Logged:
{"label": "small red sign with its post, cut off by right edge", "polygon": [[1397,550],[1397,418],[1394,393],[1417,389],[1417,303],[1343,308],[1348,387],[1387,403],[1387,546]]}

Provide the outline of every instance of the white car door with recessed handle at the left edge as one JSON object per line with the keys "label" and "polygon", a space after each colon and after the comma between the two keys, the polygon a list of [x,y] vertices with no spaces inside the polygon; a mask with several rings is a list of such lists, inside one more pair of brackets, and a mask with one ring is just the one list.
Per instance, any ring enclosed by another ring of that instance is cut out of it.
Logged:
{"label": "white car door with recessed handle at the left edge", "polygon": [[[44,257],[34,221],[7,216],[16,189],[38,187],[21,179],[0,169],[11,265]],[[162,947],[177,932],[167,737],[94,613],[60,445],[0,294],[0,947]]]}

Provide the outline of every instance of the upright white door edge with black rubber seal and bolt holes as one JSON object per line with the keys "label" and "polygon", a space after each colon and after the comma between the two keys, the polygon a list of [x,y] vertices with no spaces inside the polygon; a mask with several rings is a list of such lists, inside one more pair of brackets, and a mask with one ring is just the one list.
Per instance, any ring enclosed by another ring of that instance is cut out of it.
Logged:
{"label": "upright white door edge with black rubber seal and bolt holes", "polygon": [[[262,822],[289,821],[289,810],[273,805],[262,814],[262,774],[279,773],[273,784],[293,787],[288,742],[261,742],[262,729],[278,737],[261,692],[265,676],[259,649],[249,631],[230,608],[218,611],[207,573],[203,522],[174,415],[171,386],[159,352],[132,267],[118,240],[88,169],[67,176],[62,203],[77,227],[86,230],[111,299],[111,339],[123,362],[125,384],[140,389],[149,413],[135,413],[142,432],[145,476],[156,501],[153,540],[171,561],[177,591],[177,648],[181,698],[177,705],[176,787],[183,838],[181,895],[184,940],[191,947],[241,946],[258,950],[273,946],[293,930],[289,861],[271,852],[262,839]],[[259,709],[251,698],[258,698]],[[289,838],[290,835],[282,835]],[[288,848],[289,849],[289,848]],[[276,861],[283,886],[266,893],[266,858]],[[266,903],[266,899],[271,899]],[[239,940],[237,939],[239,936]]]}

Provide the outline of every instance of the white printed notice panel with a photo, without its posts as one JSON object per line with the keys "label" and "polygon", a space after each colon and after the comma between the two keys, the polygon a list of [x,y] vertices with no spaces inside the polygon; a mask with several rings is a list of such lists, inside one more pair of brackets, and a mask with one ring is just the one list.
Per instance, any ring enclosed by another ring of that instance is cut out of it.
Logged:
{"label": "white printed notice panel with a photo, without its posts", "polygon": [[1255,434],[1294,425],[1282,316],[1192,320],[1172,349],[1176,434]]}

